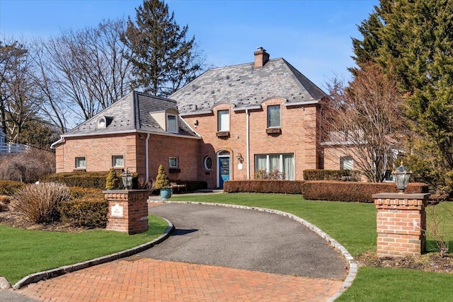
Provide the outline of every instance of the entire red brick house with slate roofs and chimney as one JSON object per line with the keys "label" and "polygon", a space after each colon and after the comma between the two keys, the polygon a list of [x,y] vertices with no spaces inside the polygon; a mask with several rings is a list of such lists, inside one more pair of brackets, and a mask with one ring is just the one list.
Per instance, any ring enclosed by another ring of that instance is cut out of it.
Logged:
{"label": "entire red brick house with slate roofs and chimney", "polygon": [[168,99],[130,93],[53,144],[57,172],[128,167],[152,180],[164,164],[173,180],[214,188],[323,168],[317,130],[328,96],[285,59],[262,48],[254,58],[210,69]]}

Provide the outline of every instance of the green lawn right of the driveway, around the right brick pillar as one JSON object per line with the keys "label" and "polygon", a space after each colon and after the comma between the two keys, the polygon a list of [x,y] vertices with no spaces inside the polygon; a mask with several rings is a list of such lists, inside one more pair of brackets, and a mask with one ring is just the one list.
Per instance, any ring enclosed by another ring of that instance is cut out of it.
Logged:
{"label": "green lawn right of the driveway, around the right brick pillar", "polygon": [[[171,200],[216,202],[285,211],[305,219],[338,240],[353,256],[376,250],[374,204],[304,200],[293,194],[205,194],[173,195]],[[427,221],[453,212],[453,202],[427,211]],[[445,239],[453,242],[453,216],[442,221]],[[428,234],[428,243],[432,243]],[[430,250],[434,245],[428,246]],[[410,269],[362,267],[352,286],[338,301],[453,301],[453,274]]]}

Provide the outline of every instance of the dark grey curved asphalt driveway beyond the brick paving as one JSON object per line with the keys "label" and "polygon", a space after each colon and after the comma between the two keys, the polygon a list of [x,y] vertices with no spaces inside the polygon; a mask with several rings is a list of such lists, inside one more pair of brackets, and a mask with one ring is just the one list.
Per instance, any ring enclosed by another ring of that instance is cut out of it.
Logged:
{"label": "dark grey curved asphalt driveway beyond the brick paving", "polygon": [[277,214],[202,204],[150,204],[171,221],[170,238],[138,256],[323,279],[347,266],[326,240]]}

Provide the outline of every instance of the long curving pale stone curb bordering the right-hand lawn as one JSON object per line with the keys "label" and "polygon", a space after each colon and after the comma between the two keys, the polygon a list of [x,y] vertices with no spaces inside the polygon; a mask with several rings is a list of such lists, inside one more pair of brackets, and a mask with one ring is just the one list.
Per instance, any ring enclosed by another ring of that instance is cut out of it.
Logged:
{"label": "long curving pale stone curb bordering the right-hand lawn", "polygon": [[335,295],[333,295],[327,301],[335,301],[336,298],[338,298],[341,294],[343,294],[344,291],[346,291],[346,289],[348,289],[351,286],[352,281],[354,281],[355,276],[357,275],[357,262],[354,260],[352,255],[350,255],[350,252],[348,252],[348,250],[346,250],[346,248],[343,247],[343,245],[340,245],[340,243],[338,243],[337,240],[331,238],[331,236],[328,236],[327,233],[325,233],[324,231],[321,230],[321,228],[318,228],[313,223],[309,223],[308,221],[306,221],[306,220],[304,220],[304,219],[302,219],[302,218],[300,218],[300,217],[298,217],[298,216],[296,216],[294,214],[290,214],[290,213],[287,213],[285,211],[278,211],[278,210],[275,210],[275,209],[265,209],[265,208],[260,208],[260,207],[239,206],[239,205],[236,205],[236,204],[219,204],[219,203],[213,203],[213,202],[175,202],[175,201],[171,201],[171,200],[149,201],[149,203],[153,203],[153,202],[156,202],[156,203],[168,203],[168,204],[171,204],[171,203],[175,203],[175,204],[202,204],[202,205],[219,206],[219,207],[231,207],[231,208],[234,208],[234,209],[248,209],[248,210],[255,210],[255,211],[264,211],[266,213],[271,213],[271,214],[277,214],[277,215],[280,215],[280,216],[285,216],[285,217],[288,217],[289,219],[292,219],[294,221],[297,221],[297,222],[301,223],[302,225],[306,226],[311,231],[316,233],[318,236],[320,236],[321,238],[326,240],[326,242],[328,242],[333,248],[338,250],[341,253],[341,255],[343,255],[345,260],[348,262],[348,265],[349,265],[348,276],[346,276],[345,281],[343,281],[343,285],[341,286],[341,289],[339,291],[337,291],[337,293]]}

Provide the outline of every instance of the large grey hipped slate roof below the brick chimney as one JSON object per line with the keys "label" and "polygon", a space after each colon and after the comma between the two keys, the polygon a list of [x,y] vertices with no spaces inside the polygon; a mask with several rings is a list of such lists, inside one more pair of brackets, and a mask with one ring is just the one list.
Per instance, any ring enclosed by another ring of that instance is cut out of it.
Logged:
{"label": "large grey hipped slate roof below the brick chimney", "polygon": [[260,105],[271,97],[290,103],[316,103],[325,96],[318,86],[285,59],[271,59],[262,68],[254,63],[210,69],[173,93],[182,115],[210,112],[214,105],[231,103],[236,109]]}

